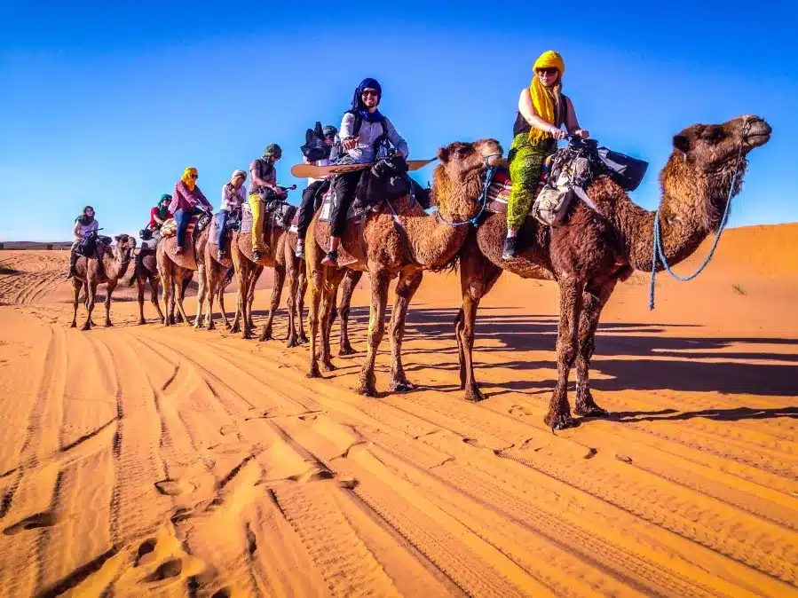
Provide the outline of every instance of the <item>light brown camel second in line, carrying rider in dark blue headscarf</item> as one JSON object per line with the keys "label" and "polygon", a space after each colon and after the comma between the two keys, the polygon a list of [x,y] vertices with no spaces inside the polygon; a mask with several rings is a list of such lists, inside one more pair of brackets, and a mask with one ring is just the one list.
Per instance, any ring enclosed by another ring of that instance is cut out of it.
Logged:
{"label": "light brown camel second in line, carrying rider in dark blue headscarf", "polygon": [[[311,329],[310,367],[308,377],[320,377],[319,360],[326,371],[335,369],[330,361],[329,326],[336,289],[347,269],[367,271],[371,286],[371,310],[368,325],[367,356],[359,374],[357,391],[375,396],[376,351],[384,334],[385,307],[391,279],[399,277],[391,315],[391,383],[390,389],[409,390],[401,362],[401,343],[407,307],[421,284],[423,271],[442,270],[456,260],[468,230],[449,226],[448,222],[467,223],[476,216],[475,208],[483,192],[483,177],[489,161],[502,155],[502,146],[495,139],[474,143],[455,142],[439,149],[441,163],[433,175],[432,193],[439,213],[428,215],[409,196],[391,204],[383,201],[377,211],[369,211],[365,221],[350,219],[339,248],[345,267],[333,269],[321,265],[329,238],[329,224],[313,216],[305,239],[307,278],[311,292],[308,325]],[[371,184],[366,171],[361,187]],[[396,216],[393,216],[395,213]],[[396,224],[394,221],[396,218]],[[316,334],[320,331],[320,358],[316,357]]]}

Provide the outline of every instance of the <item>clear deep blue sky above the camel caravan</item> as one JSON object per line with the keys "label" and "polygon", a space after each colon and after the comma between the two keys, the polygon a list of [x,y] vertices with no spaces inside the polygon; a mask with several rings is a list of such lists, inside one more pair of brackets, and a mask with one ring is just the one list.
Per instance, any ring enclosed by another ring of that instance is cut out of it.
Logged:
{"label": "clear deep blue sky above the camel caravan", "polygon": [[0,4],[0,240],[69,239],[87,203],[107,233],[138,234],[186,166],[217,206],[270,142],[296,203],[304,131],[340,124],[365,76],[412,158],[458,139],[507,149],[548,49],[592,136],[651,162],[642,206],[657,205],[676,132],[760,114],[773,138],[750,156],[731,225],[798,221],[793,0],[122,4]]}

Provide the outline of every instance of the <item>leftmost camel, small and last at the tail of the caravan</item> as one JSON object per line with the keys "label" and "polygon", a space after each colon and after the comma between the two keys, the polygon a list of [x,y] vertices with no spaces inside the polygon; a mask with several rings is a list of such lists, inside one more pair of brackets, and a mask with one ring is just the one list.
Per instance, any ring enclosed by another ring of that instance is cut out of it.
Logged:
{"label": "leftmost camel, small and last at the tail of the caravan", "polygon": [[136,240],[130,235],[120,234],[115,236],[116,245],[109,247],[105,243],[97,241],[97,255],[102,264],[99,264],[98,259],[87,258],[80,256],[75,263],[75,276],[72,278],[73,289],[73,316],[72,325],[70,327],[77,327],[77,305],[78,297],[80,296],[81,289],[85,287],[85,305],[86,321],[83,324],[83,330],[91,330],[94,323],[91,321],[91,311],[94,310],[94,300],[97,296],[97,287],[99,285],[106,285],[106,327],[114,326],[111,323],[111,294],[114,292],[116,285],[119,283],[125,271],[128,269],[128,264],[133,258],[133,252],[136,250]]}

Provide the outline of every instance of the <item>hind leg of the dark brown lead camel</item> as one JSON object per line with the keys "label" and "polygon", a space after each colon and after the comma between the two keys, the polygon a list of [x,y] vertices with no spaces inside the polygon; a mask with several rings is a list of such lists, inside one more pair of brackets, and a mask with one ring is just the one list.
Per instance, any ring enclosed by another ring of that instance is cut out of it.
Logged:
{"label": "hind leg of the dark brown lead camel", "polygon": [[463,254],[460,271],[462,308],[454,320],[454,337],[460,354],[460,388],[465,390],[465,398],[469,401],[478,402],[485,398],[474,376],[474,324],[479,302],[500,276],[502,269],[482,256],[477,248]]}

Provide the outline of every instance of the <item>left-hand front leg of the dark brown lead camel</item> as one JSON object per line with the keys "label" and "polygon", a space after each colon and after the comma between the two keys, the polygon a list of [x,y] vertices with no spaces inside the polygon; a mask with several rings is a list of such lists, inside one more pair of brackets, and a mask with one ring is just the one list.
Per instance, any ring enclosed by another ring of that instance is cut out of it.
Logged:
{"label": "left-hand front leg of the dark brown lead camel", "polygon": [[557,327],[557,386],[549,401],[549,413],[543,421],[551,429],[571,428],[571,405],[568,405],[568,374],[579,349],[579,319],[584,284],[573,278],[560,279],[560,321]]}

